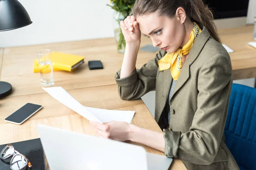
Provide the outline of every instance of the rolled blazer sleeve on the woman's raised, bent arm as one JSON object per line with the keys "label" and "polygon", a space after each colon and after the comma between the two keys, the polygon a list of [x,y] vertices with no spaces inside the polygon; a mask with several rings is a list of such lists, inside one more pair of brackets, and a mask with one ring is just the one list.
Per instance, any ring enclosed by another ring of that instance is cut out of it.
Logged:
{"label": "rolled blazer sleeve on the woman's raised, bent arm", "polygon": [[158,70],[158,60],[161,59],[165,51],[160,50],[154,59],[151,59],[139,70],[135,68],[128,77],[120,79],[119,70],[116,73],[115,80],[118,85],[118,93],[123,100],[139,99],[144,94],[151,91],[156,86],[156,77]]}

